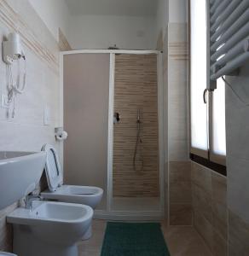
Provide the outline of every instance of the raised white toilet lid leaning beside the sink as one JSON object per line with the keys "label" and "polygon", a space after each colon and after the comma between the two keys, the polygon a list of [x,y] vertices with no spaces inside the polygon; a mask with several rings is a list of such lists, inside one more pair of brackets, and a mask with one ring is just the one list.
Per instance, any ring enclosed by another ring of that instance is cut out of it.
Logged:
{"label": "raised white toilet lid leaning beside the sink", "polygon": [[45,172],[49,190],[55,191],[63,183],[59,157],[55,148],[49,144],[43,145],[42,151],[47,153]]}

